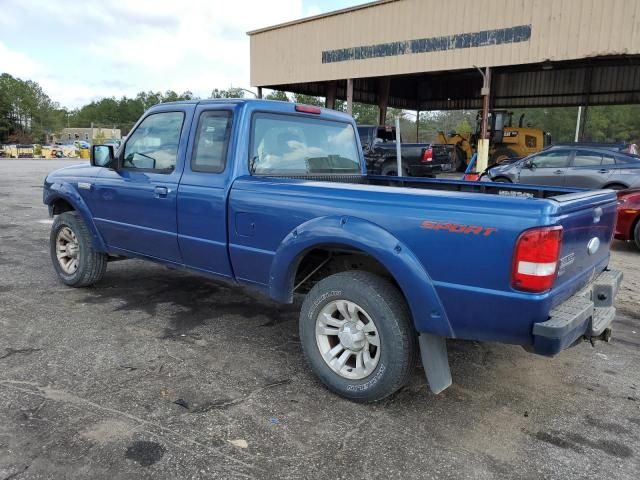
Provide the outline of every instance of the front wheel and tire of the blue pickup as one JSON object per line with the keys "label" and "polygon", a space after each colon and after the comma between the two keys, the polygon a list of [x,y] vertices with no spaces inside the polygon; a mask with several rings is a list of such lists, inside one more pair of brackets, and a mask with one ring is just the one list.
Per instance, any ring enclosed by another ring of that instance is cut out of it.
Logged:
{"label": "front wheel and tire of the blue pickup", "polygon": [[[49,251],[58,277],[70,287],[93,285],[107,270],[108,257],[95,250],[78,212],[64,212],[56,217],[51,226]],[[62,259],[58,259],[58,253],[64,255]]]}

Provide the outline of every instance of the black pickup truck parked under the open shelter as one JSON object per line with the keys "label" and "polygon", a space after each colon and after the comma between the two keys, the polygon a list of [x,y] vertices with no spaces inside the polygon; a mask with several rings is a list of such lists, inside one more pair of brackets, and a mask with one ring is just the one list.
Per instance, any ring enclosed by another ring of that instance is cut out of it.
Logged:
{"label": "black pickup truck parked under the open shelter", "polygon": [[[358,135],[367,172],[397,175],[396,129],[391,125],[359,125]],[[400,142],[403,177],[425,177],[453,171],[453,147],[431,143]]]}

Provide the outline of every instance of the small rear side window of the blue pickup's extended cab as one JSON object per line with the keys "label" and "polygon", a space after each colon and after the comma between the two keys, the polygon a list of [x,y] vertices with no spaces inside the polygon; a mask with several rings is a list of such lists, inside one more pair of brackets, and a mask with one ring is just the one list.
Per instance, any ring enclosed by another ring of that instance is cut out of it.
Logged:
{"label": "small rear side window of the blue pickup's extended cab", "polygon": [[194,172],[220,173],[224,170],[231,133],[231,112],[203,112],[198,122],[196,143],[191,157]]}

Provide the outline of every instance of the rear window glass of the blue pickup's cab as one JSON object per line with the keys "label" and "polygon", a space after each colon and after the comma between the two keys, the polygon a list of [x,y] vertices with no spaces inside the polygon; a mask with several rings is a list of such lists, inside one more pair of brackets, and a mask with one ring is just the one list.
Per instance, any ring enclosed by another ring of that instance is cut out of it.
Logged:
{"label": "rear window glass of the blue pickup's cab", "polygon": [[349,123],[258,113],[252,133],[251,173],[360,173],[356,134]]}

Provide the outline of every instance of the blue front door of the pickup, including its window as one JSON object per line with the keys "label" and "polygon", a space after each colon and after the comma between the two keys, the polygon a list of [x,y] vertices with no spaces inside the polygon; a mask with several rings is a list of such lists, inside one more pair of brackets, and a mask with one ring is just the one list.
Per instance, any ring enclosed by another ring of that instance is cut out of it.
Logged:
{"label": "blue front door of the pickup, including its window", "polygon": [[176,200],[193,107],[166,108],[138,123],[116,170],[100,171],[93,215],[110,248],[181,263]]}

